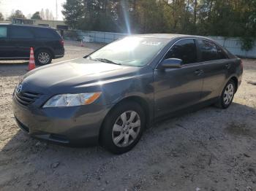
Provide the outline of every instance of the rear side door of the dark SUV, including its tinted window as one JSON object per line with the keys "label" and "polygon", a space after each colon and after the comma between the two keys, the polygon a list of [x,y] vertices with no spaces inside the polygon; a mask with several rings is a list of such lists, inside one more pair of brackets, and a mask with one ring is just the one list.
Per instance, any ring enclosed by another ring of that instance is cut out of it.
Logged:
{"label": "rear side door of the dark SUV, including its tinted window", "polygon": [[10,26],[10,43],[15,46],[18,58],[29,58],[30,47],[34,47],[34,34],[29,26]]}

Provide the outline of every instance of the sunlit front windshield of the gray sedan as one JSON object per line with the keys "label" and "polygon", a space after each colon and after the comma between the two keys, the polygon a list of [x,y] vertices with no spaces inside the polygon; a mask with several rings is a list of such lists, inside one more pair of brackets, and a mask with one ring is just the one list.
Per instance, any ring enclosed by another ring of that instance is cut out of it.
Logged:
{"label": "sunlit front windshield of the gray sedan", "polygon": [[144,66],[167,44],[166,39],[128,36],[92,53],[88,58],[128,66]]}

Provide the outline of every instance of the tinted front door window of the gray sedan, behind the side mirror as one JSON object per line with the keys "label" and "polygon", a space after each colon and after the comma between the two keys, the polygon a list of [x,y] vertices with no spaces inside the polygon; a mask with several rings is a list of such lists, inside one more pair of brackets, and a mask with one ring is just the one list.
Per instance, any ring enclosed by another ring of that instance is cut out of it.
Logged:
{"label": "tinted front door window of the gray sedan, behind the side mirror", "polygon": [[176,44],[167,52],[165,59],[178,58],[184,64],[197,62],[197,48],[193,39],[184,39]]}

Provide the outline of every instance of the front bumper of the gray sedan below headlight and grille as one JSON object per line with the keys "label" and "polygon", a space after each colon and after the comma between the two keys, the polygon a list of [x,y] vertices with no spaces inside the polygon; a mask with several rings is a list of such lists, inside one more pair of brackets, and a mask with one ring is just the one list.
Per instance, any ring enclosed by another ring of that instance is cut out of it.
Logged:
{"label": "front bumper of the gray sedan below headlight and grille", "polygon": [[99,130],[111,106],[37,108],[23,106],[12,98],[18,126],[30,136],[60,144],[95,145]]}

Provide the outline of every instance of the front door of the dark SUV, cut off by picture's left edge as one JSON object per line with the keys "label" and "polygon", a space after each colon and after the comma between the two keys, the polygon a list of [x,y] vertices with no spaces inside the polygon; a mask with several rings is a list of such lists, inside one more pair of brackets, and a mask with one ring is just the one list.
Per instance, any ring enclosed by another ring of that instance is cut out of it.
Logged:
{"label": "front door of the dark SUV, cut off by picture's left edge", "polygon": [[8,26],[0,26],[0,58],[13,57],[12,44],[8,42]]}

